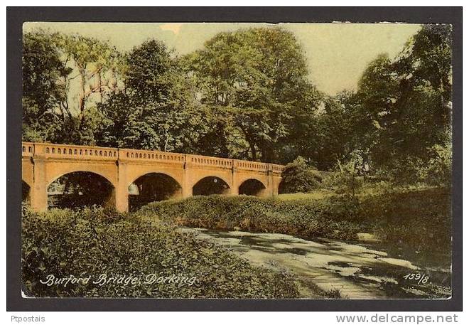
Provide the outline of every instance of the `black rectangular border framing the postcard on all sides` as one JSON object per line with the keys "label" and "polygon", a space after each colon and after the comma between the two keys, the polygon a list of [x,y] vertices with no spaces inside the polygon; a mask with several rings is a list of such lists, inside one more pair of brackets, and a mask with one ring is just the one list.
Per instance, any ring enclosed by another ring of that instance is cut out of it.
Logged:
{"label": "black rectangular border framing the postcard on all sides", "polygon": [[[21,36],[24,21],[453,24],[453,297],[445,300],[25,299],[21,297]],[[7,7],[7,311],[462,311],[462,7]]]}

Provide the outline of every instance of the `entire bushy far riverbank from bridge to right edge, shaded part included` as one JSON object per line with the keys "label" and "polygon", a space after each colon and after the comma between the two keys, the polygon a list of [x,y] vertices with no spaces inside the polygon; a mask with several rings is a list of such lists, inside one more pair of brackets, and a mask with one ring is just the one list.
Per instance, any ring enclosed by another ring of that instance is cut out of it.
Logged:
{"label": "entire bushy far riverbank from bridge to right edge, shaded part included", "polygon": [[306,238],[354,240],[357,233],[370,232],[379,235],[385,243],[448,252],[450,198],[449,191],[443,188],[289,201],[204,196],[151,203],[140,213],[183,226],[240,228]]}

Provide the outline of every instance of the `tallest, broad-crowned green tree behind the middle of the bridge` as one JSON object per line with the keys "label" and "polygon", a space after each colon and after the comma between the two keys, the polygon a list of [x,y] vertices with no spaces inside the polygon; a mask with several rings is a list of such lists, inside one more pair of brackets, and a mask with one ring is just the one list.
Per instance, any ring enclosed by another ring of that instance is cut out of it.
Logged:
{"label": "tallest, broad-crowned green tree behind the middle of the bridge", "polygon": [[[306,60],[296,38],[281,28],[250,28],[219,33],[203,50],[187,55],[185,67],[195,80],[200,102],[224,111],[226,127],[239,130],[243,158],[279,161],[295,125],[292,116],[316,102]],[[230,119],[230,117],[233,117]],[[234,124],[230,124],[230,120]],[[215,150],[227,152],[224,129],[212,129]]]}

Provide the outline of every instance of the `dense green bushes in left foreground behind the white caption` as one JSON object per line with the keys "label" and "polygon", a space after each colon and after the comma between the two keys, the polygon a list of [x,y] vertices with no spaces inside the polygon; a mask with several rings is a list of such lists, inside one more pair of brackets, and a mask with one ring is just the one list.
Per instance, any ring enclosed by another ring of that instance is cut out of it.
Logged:
{"label": "dense green bushes in left foreground behind the white caption", "polygon": [[[118,215],[102,209],[53,210],[41,215],[26,211],[22,226],[23,284],[31,297],[298,295],[290,275],[254,267],[222,247],[196,240],[168,225],[141,220],[137,215]],[[102,274],[107,279],[136,277],[138,281],[93,284]],[[87,284],[48,286],[40,282],[45,282],[48,275],[90,280]],[[172,275],[176,277],[171,280]],[[153,283],[145,283],[151,280]]]}

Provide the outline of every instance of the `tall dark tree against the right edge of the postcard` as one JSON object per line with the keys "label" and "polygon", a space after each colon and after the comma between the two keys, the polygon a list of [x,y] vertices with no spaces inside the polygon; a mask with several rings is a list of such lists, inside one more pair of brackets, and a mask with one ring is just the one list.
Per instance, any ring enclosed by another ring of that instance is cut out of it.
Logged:
{"label": "tall dark tree against the right edge of the postcard", "polygon": [[380,55],[362,75],[356,100],[355,136],[371,165],[410,179],[434,145],[451,139],[451,26],[424,25],[397,58]]}

